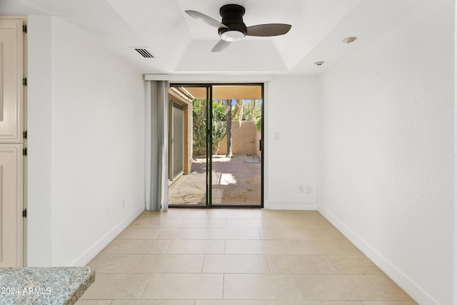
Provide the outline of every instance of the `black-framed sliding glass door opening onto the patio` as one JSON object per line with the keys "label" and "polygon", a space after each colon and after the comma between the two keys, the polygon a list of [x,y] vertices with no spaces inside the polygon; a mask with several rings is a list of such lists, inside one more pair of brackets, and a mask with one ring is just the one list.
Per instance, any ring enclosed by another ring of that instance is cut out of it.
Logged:
{"label": "black-framed sliding glass door opening onto the patio", "polygon": [[191,169],[170,184],[169,205],[263,206],[263,85],[174,84],[170,95],[185,99],[192,117]]}

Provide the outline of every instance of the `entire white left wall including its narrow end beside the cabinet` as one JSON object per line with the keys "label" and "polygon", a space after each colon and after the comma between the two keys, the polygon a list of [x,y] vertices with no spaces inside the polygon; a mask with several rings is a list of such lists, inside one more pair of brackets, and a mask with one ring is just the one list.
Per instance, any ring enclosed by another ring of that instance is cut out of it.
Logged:
{"label": "entire white left wall including its narrow end beside the cabinet", "polygon": [[70,24],[46,18],[29,21],[41,25],[30,29],[29,54],[51,53],[44,63],[29,57],[29,74],[44,83],[29,89],[29,266],[83,265],[144,210],[144,81]]}

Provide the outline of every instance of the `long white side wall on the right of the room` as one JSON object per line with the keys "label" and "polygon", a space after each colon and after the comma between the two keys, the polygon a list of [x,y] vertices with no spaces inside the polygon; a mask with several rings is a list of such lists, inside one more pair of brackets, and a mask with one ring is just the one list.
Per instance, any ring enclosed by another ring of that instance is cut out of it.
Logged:
{"label": "long white side wall on the right of the room", "polygon": [[453,14],[434,1],[321,77],[319,211],[419,304],[453,304]]}

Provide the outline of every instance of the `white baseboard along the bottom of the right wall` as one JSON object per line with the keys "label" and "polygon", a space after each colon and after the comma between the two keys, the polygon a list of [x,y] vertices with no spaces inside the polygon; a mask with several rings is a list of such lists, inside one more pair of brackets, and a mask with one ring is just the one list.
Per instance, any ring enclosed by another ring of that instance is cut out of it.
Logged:
{"label": "white baseboard along the bottom of the right wall", "polygon": [[421,305],[437,305],[436,299],[424,291],[418,284],[398,269],[391,261],[388,261],[381,253],[374,249],[367,241],[363,240],[356,232],[352,231],[338,217],[333,215],[328,209],[322,206],[318,207],[318,212],[322,214],[328,221],[333,224],[341,233],[346,236],[368,259],[371,259],[376,266],[387,274],[393,281],[398,284],[407,294],[411,296],[418,304]]}

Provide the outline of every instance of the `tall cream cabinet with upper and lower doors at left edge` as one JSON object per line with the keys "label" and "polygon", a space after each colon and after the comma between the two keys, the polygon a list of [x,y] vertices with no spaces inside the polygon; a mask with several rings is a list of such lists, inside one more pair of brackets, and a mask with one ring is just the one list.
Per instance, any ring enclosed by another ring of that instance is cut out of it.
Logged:
{"label": "tall cream cabinet with upper and lower doors at left edge", "polygon": [[24,265],[24,22],[0,18],[0,267]]}

